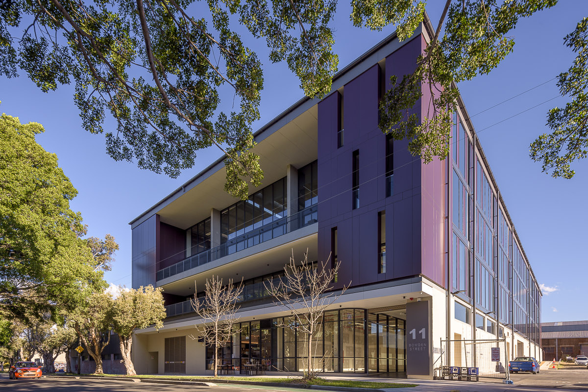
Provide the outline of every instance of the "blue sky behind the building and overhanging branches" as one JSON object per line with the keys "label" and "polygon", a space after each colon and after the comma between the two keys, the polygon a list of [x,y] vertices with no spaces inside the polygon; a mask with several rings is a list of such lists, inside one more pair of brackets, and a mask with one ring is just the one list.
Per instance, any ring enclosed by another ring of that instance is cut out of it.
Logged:
{"label": "blue sky behind the building and overhanging branches", "polygon": [[[427,12],[436,25],[443,2],[430,3]],[[349,11],[349,3],[344,2],[335,16],[339,69],[394,29],[390,26],[382,32],[370,32],[354,28]],[[540,165],[529,158],[529,144],[548,131],[547,110],[567,102],[557,97],[556,80],[552,79],[571,65],[575,55],[563,45],[563,37],[585,15],[587,1],[562,0],[552,9],[523,19],[512,33],[514,52],[490,75],[459,85],[523,248],[537,281],[543,285],[543,322],[588,319],[588,306],[582,305],[588,272],[584,250],[588,238],[588,160],[574,165],[576,176],[572,180],[562,180],[541,173]],[[254,127],[257,129],[300,99],[302,92],[285,64],[269,62],[265,42],[244,38],[259,49],[264,63],[262,120]],[[79,192],[71,208],[81,211],[89,235],[103,237],[110,233],[120,245],[106,280],[131,286],[128,222],[220,153],[215,149],[203,151],[196,165],[176,179],[139,170],[133,163],[115,162],[105,153],[103,136],[83,131],[73,93],[73,86],[42,93],[21,73],[18,79],[0,79],[0,112],[18,116],[23,123],[44,125],[45,133],[37,141],[57,154],[59,165]]]}

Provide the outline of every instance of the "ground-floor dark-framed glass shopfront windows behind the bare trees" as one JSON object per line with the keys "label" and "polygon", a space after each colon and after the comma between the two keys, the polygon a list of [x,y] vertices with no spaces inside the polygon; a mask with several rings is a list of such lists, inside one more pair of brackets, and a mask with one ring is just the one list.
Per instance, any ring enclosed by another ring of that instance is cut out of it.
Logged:
{"label": "ground-floor dark-framed glass shopfront windows behind the bare trees", "polygon": [[[258,364],[268,371],[303,371],[308,334],[290,327],[292,317],[237,323],[231,339],[218,349],[219,363],[243,370]],[[325,312],[312,336],[312,368],[325,372],[405,371],[405,320],[366,309]],[[206,350],[212,369],[213,348]],[[367,369],[366,369],[367,366]]]}

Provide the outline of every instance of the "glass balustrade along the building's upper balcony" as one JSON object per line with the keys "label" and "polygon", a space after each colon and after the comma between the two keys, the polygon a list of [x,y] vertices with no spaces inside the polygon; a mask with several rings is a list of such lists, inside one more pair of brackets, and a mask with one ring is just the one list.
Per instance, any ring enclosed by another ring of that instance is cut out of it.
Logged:
{"label": "glass balustrade along the building's upper balcony", "polygon": [[236,238],[229,239],[227,242],[225,242],[225,244],[208,249],[208,251],[193,255],[182,260],[181,262],[160,269],[156,273],[155,279],[156,281],[161,281],[162,279],[169,278],[170,276],[177,275],[178,273],[188,271],[201,265],[205,265],[211,261],[220,259],[224,256],[228,256],[242,251],[243,249],[250,248],[253,245],[261,244],[262,242],[277,238],[280,235],[284,235],[308,225],[312,225],[317,222],[317,211],[317,205],[312,205],[303,209],[302,211],[296,212],[296,214],[290,217],[284,217],[258,229],[253,229],[252,231],[249,231]]}

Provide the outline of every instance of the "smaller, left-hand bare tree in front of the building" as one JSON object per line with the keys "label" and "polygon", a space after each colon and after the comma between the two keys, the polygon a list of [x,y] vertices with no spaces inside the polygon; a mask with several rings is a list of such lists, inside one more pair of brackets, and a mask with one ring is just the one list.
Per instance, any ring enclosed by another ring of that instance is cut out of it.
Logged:
{"label": "smaller, left-hand bare tree in front of the building", "polygon": [[211,279],[206,279],[204,291],[203,298],[196,298],[194,295],[192,307],[204,323],[202,332],[206,346],[213,349],[213,371],[216,378],[219,347],[228,342],[231,334],[235,332],[233,324],[235,314],[239,310],[236,303],[243,292],[243,279],[238,285],[233,284],[233,279],[229,279],[227,284],[223,285],[222,279],[212,276]]}

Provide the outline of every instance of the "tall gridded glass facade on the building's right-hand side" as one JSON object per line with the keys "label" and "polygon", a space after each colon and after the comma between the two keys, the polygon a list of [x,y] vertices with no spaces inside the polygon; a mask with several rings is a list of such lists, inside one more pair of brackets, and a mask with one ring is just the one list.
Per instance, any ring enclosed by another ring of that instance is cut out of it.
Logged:
{"label": "tall gridded glass facade on the building's right-hand side", "polygon": [[[476,316],[480,329],[498,332],[493,316],[539,343],[539,286],[457,114],[451,148],[452,289],[465,290],[460,297],[489,315]],[[462,305],[457,310],[465,320]]]}

